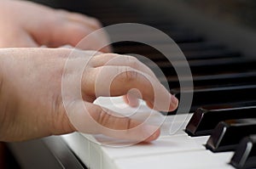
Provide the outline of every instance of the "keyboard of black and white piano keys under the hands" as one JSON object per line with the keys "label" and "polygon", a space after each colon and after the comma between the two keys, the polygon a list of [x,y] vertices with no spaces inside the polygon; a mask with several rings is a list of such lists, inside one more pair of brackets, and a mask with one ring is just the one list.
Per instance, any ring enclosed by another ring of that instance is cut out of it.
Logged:
{"label": "keyboard of black and white piano keys under the hands", "polygon": [[[183,115],[173,115],[175,113],[170,112],[162,115],[154,112],[156,120],[166,120],[161,127],[160,138],[150,144],[123,147],[129,142],[102,135],[73,133],[62,136],[68,146],[85,166],[92,169],[256,167],[253,166],[256,161],[255,137],[244,138],[256,134],[256,114],[253,114],[256,106],[256,60],[247,59],[239,51],[231,50],[218,42],[211,42],[176,24],[160,12],[126,3],[89,0],[80,12],[98,18],[103,25],[141,23],[152,25],[172,37],[188,59],[193,74],[195,90],[190,114],[184,112]],[[110,33],[110,37],[138,34],[145,38],[154,37],[154,33],[137,30]],[[167,49],[166,42],[157,37],[154,37],[153,43]],[[153,60],[165,74],[171,92],[179,98],[179,81],[186,82],[188,78],[181,76],[178,81],[172,65],[157,50],[139,42],[117,42],[113,43],[113,52],[140,54]],[[172,57],[172,51],[170,56]],[[154,66],[146,59],[141,61],[154,70]],[[183,63],[178,66],[182,67]],[[160,82],[163,81],[163,77],[159,76],[159,79]],[[117,112],[120,112],[121,107],[123,113],[133,110],[120,98],[100,98],[96,100],[96,104]],[[148,111],[148,107],[142,103],[137,118],[145,118]],[[173,126],[180,127],[175,134],[170,133]],[[244,139],[239,144],[241,138]],[[236,150],[237,147],[240,149]],[[208,149],[221,152],[213,153]]]}

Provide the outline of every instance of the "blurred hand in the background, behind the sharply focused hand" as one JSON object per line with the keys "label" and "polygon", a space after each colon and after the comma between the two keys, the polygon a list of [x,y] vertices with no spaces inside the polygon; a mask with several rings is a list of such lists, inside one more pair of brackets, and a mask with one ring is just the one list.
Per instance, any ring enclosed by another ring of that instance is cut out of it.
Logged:
{"label": "blurred hand in the background, behind the sharply focused hand", "polygon": [[[85,36],[102,27],[98,20],[83,14],[14,0],[0,1],[0,25],[0,48],[75,47]],[[79,44],[79,48],[98,50],[107,43],[106,34],[96,35]],[[101,51],[110,52],[110,48]]]}

